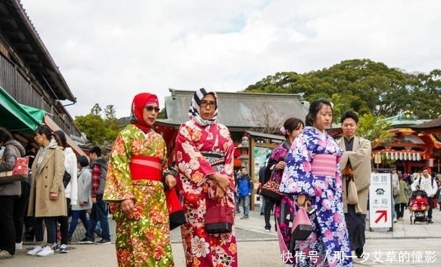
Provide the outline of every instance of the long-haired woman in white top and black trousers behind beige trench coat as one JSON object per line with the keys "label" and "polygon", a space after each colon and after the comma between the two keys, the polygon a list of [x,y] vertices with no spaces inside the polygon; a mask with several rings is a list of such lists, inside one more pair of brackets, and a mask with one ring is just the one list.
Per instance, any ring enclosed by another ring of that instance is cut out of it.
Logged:
{"label": "long-haired woman in white top and black trousers behind beige trench coat", "polygon": [[68,204],[68,216],[60,216],[58,221],[60,223],[61,241],[60,246],[54,248],[54,250],[59,250],[60,253],[68,253],[68,230],[69,230],[69,216],[70,216],[70,205],[78,204],[78,184],[76,180],[76,155],[72,148],[68,147],[65,134],[62,130],[56,130],[54,132],[55,140],[57,140],[58,145],[64,150],[64,168],[65,172],[70,175],[70,181],[65,187],[65,195]]}

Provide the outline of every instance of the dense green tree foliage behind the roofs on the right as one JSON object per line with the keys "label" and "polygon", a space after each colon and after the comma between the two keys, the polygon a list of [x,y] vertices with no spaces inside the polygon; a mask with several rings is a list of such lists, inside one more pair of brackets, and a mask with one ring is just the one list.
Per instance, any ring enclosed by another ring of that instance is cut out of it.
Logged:
{"label": "dense green tree foliage behind the roofs on the right", "polygon": [[[441,112],[441,70],[408,73],[369,59],[342,61],[305,74],[277,72],[248,86],[244,92],[300,94],[334,103],[334,123],[345,110],[360,116],[358,132],[373,142],[384,142],[391,126],[378,119],[413,111],[419,119],[435,119]],[[363,125],[365,124],[365,125]]]}

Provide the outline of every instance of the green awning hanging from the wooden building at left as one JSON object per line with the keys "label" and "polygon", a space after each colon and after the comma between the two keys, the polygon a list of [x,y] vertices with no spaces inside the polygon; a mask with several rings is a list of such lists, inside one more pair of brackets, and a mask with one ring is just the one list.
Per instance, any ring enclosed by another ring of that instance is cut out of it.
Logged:
{"label": "green awning hanging from the wooden building at left", "polygon": [[41,125],[44,110],[22,105],[0,87],[0,127],[9,131],[34,135]]}

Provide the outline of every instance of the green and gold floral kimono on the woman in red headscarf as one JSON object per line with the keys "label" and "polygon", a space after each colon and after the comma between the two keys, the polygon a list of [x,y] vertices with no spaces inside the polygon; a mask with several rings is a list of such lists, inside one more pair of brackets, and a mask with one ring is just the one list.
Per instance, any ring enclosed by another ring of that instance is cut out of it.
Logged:
{"label": "green and gold floral kimono on the woman in red headscarf", "polygon": [[[112,147],[104,197],[116,221],[116,258],[118,266],[174,266],[170,245],[170,226],[161,181],[132,181],[130,157],[158,157],[166,161],[165,142],[151,130],[144,134],[129,124]],[[134,199],[134,212],[125,215],[119,201]]]}

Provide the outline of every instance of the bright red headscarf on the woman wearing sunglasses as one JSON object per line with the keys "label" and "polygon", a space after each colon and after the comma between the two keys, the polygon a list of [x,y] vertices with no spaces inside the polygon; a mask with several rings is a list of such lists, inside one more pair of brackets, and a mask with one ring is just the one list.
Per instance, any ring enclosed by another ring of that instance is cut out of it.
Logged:
{"label": "bright red headscarf on the woman wearing sunglasses", "polygon": [[150,132],[152,129],[152,127],[145,124],[143,119],[144,107],[151,103],[156,103],[159,108],[158,97],[156,97],[156,95],[149,94],[148,92],[141,92],[141,94],[135,95],[132,101],[132,114],[130,115],[130,122],[145,133]]}

